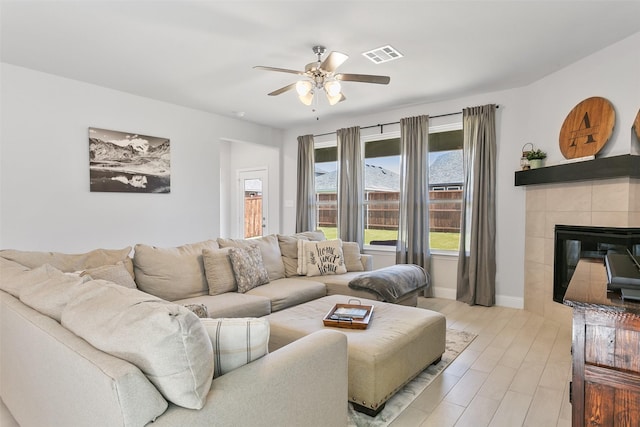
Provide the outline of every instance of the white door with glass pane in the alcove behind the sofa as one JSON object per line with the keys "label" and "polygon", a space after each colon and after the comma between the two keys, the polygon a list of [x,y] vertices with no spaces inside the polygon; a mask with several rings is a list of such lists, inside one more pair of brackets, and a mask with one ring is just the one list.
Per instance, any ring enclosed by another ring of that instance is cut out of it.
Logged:
{"label": "white door with glass pane in the alcove behind the sofa", "polygon": [[240,212],[238,229],[242,237],[260,237],[268,232],[267,169],[238,171]]}

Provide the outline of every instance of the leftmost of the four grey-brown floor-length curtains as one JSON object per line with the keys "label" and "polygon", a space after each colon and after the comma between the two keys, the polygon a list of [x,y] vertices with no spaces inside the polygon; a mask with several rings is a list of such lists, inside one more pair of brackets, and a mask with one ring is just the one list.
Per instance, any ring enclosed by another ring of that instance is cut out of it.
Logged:
{"label": "leftmost of the four grey-brown floor-length curtains", "polygon": [[315,151],[313,135],[298,137],[298,190],[296,233],[312,231],[316,223]]}

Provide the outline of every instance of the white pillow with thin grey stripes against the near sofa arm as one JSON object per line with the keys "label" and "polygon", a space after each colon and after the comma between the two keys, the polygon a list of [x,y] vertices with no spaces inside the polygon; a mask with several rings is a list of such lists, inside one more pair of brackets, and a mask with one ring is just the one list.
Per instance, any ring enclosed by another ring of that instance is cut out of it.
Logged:
{"label": "white pillow with thin grey stripes against the near sofa arm", "polygon": [[252,317],[200,319],[213,346],[214,377],[261,358],[269,352],[269,322]]}

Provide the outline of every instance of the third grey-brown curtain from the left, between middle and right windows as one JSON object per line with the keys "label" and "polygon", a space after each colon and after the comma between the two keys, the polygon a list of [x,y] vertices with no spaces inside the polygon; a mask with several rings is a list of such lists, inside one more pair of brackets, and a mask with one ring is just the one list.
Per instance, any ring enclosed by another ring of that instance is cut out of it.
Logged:
{"label": "third grey-brown curtain from the left, between middle and right windows", "polygon": [[[397,264],[417,264],[429,273],[429,116],[400,120],[400,217]],[[424,296],[433,296],[429,282]]]}

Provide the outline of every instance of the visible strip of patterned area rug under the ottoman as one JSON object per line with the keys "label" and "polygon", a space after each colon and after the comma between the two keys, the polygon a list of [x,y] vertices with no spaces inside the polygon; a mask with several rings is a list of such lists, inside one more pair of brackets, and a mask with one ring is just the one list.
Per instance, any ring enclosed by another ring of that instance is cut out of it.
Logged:
{"label": "visible strip of patterned area rug under the ottoman", "polygon": [[476,335],[469,332],[447,329],[447,343],[442,360],[430,365],[411,382],[405,385],[391,399],[376,417],[370,417],[353,409],[349,404],[349,427],[386,427],[395,420],[427,388],[453,360],[458,357]]}

